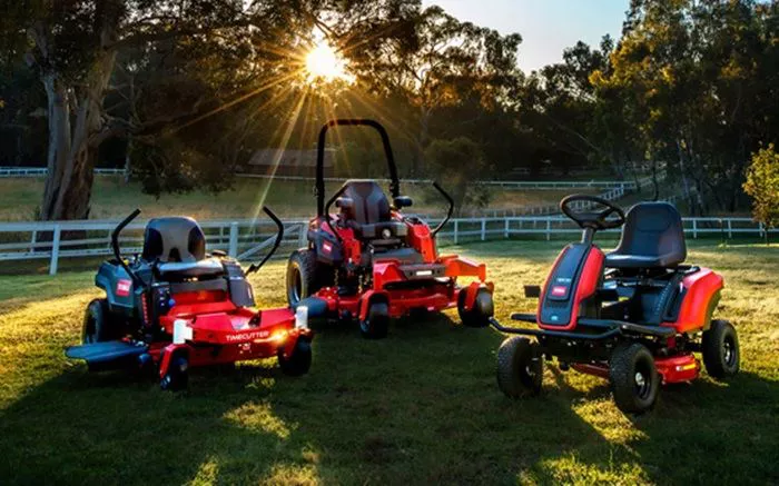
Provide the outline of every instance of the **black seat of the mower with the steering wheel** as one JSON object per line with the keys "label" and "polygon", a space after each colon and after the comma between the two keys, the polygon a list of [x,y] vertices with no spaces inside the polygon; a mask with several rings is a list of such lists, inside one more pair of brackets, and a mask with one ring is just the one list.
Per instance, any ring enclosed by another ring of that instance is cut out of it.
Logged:
{"label": "black seat of the mower with the steering wheel", "polygon": [[664,268],[684,258],[684,229],[677,208],[668,202],[639,202],[628,211],[620,244],[605,256],[605,266]]}

